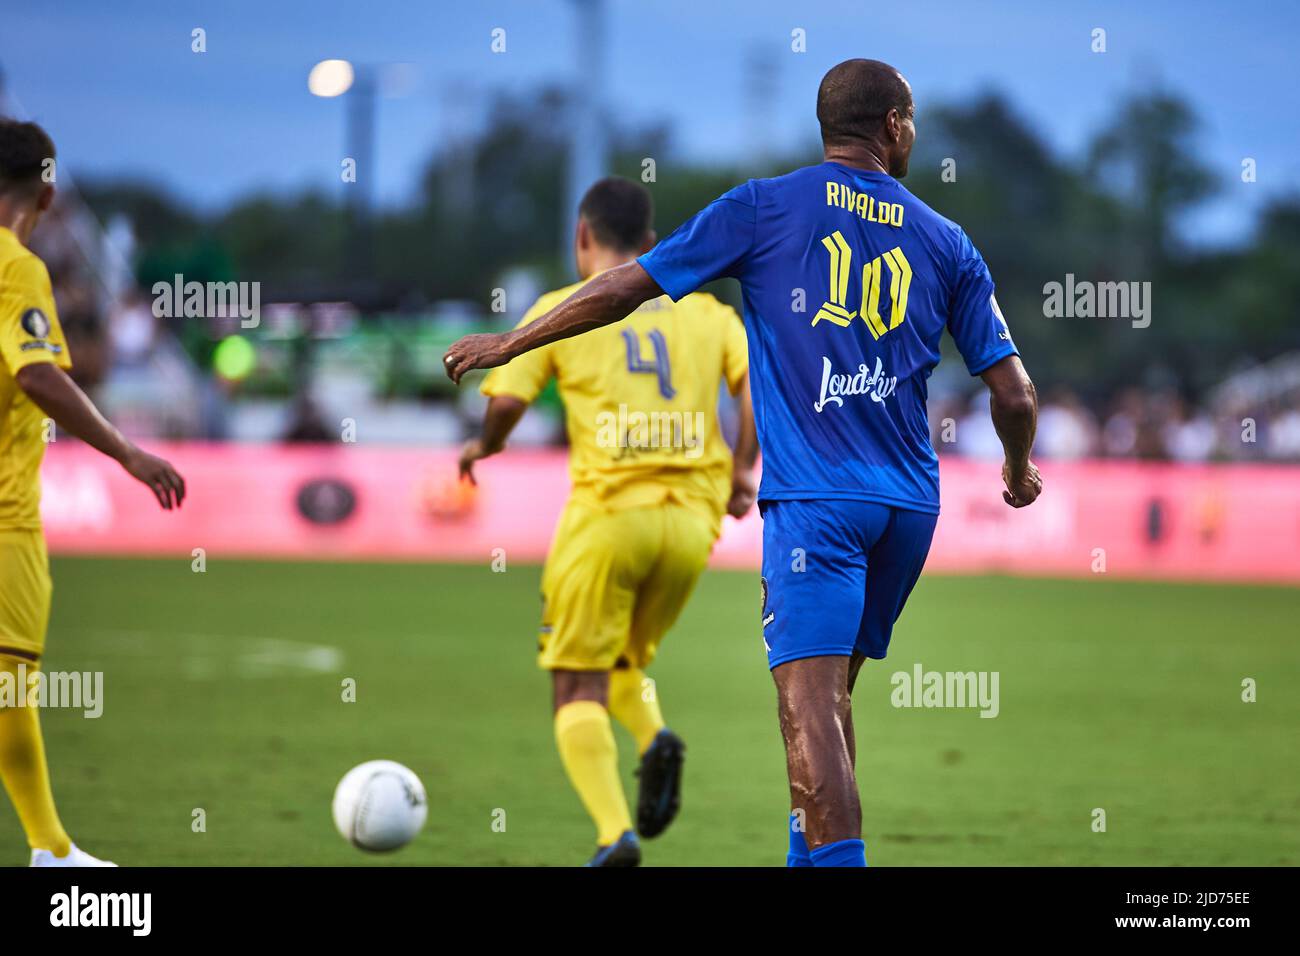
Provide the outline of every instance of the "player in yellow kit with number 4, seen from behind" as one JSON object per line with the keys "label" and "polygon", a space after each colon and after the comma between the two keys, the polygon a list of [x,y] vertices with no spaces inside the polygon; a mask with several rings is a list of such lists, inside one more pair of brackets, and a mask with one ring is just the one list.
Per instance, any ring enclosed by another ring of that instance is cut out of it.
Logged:
{"label": "player in yellow kit with number 4, seen from behind", "polygon": [[[584,282],[654,246],[650,194],[637,183],[602,179],[578,213]],[[580,285],[543,295],[521,325]],[[538,662],[554,680],[560,758],[595,821],[593,866],[641,861],[611,714],[641,753],[637,832],[663,832],[680,805],[685,745],[664,727],[644,671],[705,570],[723,514],[740,518],[754,502],[748,371],[740,316],[697,293],[651,299],[598,333],[521,355],[482,385],[482,437],[460,458],[469,480],[551,378],[564,401],[573,489],[542,572]],[[720,385],[740,408],[734,455],[718,425]]]}

